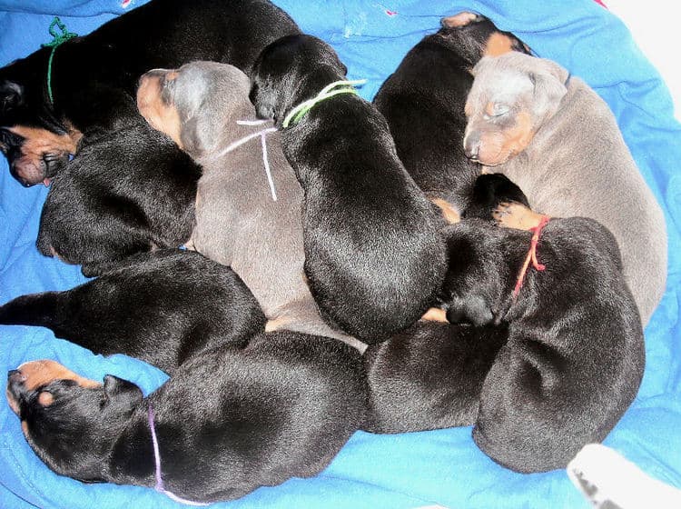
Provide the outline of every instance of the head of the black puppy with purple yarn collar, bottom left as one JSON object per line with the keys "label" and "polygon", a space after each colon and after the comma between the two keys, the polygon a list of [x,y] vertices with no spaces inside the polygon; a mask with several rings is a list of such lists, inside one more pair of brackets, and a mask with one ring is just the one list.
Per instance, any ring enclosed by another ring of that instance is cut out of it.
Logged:
{"label": "head of the black puppy with purple yarn collar, bottom left", "polygon": [[84,481],[104,479],[106,457],[143,398],[139,387],[113,375],[98,384],[48,360],[10,371],[6,396],[44,463]]}

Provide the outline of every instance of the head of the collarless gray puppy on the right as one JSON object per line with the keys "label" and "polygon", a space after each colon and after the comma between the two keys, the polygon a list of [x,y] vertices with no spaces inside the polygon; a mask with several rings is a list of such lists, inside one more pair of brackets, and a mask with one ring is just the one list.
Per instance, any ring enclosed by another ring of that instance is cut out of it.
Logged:
{"label": "head of the collarless gray puppy on the right", "polygon": [[473,75],[463,145],[466,155],[487,166],[525,150],[568,92],[566,69],[517,52],[482,58]]}

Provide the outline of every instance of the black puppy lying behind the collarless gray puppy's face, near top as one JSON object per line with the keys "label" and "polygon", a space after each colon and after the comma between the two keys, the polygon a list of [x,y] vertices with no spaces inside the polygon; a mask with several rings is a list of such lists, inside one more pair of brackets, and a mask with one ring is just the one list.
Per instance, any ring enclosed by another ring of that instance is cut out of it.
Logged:
{"label": "black puppy lying behind the collarless gray puppy's face, near top", "polygon": [[479,174],[462,145],[470,70],[483,55],[528,49],[481,15],[459,13],[442,18],[440,25],[405,55],[373,103],[386,117],[400,160],[416,184],[460,214]]}

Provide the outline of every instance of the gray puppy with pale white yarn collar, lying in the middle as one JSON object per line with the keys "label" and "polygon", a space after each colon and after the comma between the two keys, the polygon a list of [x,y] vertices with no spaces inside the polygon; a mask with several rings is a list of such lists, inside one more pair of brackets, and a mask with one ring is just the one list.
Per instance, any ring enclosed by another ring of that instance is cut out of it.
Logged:
{"label": "gray puppy with pale white yarn collar, lying in the middle", "polygon": [[192,247],[242,277],[267,330],[324,335],[363,351],[359,340],[323,322],[312,298],[303,274],[301,185],[278,132],[266,135],[269,184],[257,133],[272,124],[240,122],[255,119],[250,87],[236,67],[212,62],[154,69],[140,79],[140,113],[203,168]]}

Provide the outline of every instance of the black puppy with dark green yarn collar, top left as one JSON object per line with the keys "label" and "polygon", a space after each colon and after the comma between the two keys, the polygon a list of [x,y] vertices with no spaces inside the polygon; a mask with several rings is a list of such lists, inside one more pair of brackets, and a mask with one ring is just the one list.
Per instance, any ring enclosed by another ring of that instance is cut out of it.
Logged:
{"label": "black puppy with dark green yarn collar, top left", "polygon": [[[48,183],[82,135],[139,118],[131,98],[147,70],[204,59],[248,73],[265,45],[297,33],[291,17],[267,0],[152,0],[58,46],[52,96],[51,48],[0,69],[0,150],[19,182]],[[143,160],[122,167],[140,165]]]}

